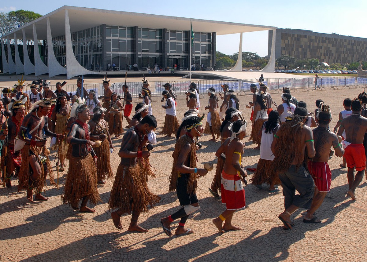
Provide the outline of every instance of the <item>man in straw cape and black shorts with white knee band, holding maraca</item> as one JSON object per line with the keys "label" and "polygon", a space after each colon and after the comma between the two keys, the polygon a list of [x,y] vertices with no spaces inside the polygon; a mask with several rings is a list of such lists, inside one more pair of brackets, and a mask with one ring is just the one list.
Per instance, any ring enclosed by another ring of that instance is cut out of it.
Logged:
{"label": "man in straw cape and black shorts with white knee band, holding maraca", "polygon": [[[196,167],[196,136],[201,136],[203,132],[204,118],[195,115],[189,116],[181,123],[176,134],[175,150],[172,154],[173,165],[170,176],[170,191],[176,190],[180,205],[183,206],[176,213],[162,218],[161,225],[167,236],[172,236],[171,223],[181,218],[176,229],[176,235],[192,234],[194,230],[185,228],[186,220],[189,215],[197,211],[199,200],[196,196],[197,178],[205,176],[207,170]],[[186,134],[179,137],[182,128],[185,128]]]}

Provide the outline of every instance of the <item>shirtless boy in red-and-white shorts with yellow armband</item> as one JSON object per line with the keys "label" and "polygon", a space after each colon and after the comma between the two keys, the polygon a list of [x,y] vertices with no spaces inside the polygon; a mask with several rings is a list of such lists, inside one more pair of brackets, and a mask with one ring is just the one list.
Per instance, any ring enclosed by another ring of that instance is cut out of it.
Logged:
{"label": "shirtless boy in red-and-white shorts with yellow armband", "polygon": [[[224,160],[222,171],[221,193],[222,203],[226,204],[226,210],[213,219],[213,224],[219,232],[227,230],[240,230],[232,225],[232,217],[236,210],[245,207],[245,190],[241,177],[246,182],[247,173],[241,165],[244,144],[241,142],[246,136],[246,121],[237,120],[229,125],[232,136],[228,137],[219,147],[215,155]],[[222,227],[224,221],[224,226]]]}

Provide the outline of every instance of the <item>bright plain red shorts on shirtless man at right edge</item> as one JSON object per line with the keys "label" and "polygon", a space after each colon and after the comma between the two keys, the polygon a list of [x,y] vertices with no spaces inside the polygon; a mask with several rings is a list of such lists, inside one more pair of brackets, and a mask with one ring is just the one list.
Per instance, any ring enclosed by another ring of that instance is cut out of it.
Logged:
{"label": "bright plain red shorts on shirtless man at right edge", "polygon": [[366,155],[363,144],[350,144],[345,148],[344,157],[348,168],[356,167],[356,171],[366,169]]}

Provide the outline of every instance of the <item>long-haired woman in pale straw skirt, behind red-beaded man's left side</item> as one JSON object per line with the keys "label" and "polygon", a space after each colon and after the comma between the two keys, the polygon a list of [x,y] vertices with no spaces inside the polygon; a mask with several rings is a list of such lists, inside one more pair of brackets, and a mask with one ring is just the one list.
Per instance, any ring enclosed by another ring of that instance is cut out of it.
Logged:
{"label": "long-haired woman in pale straw skirt, behind red-beaded man's left side", "polygon": [[[64,93],[60,93],[57,97],[56,106],[52,110],[51,114],[51,131],[57,134],[64,134],[66,132],[66,123],[70,117],[71,106],[68,105],[68,100]],[[56,143],[51,147],[52,150],[58,150],[60,159],[59,171],[64,171],[64,160],[66,153],[68,152],[68,144],[66,143],[66,137],[64,139],[56,140]],[[58,164],[58,163],[57,163]]]}

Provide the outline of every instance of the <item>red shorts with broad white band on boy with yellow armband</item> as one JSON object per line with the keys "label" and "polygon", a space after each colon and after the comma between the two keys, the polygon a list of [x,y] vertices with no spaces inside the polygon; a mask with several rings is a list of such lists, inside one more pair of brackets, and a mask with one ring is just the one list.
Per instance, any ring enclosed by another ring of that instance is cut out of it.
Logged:
{"label": "red shorts with broad white band on boy with yellow armband", "polygon": [[222,171],[221,192],[222,203],[226,204],[226,209],[237,210],[245,207],[245,190],[238,174],[228,175]]}

